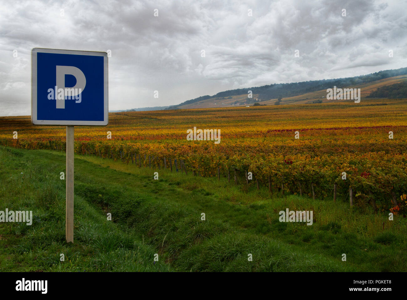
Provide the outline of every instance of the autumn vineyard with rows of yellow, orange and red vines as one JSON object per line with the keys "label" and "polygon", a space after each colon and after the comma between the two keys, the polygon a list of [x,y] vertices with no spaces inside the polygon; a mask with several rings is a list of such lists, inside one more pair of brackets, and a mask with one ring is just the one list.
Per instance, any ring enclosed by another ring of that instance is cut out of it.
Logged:
{"label": "autumn vineyard with rows of yellow, orange and red vines", "polygon": [[[110,113],[107,127],[75,127],[75,152],[154,171],[223,176],[270,193],[323,199],[335,189],[338,200],[351,195],[354,205],[405,213],[406,111],[407,100],[362,100]],[[187,140],[193,127],[219,129],[220,143]],[[2,145],[64,151],[65,134],[65,127],[33,126],[29,117],[0,118]]]}

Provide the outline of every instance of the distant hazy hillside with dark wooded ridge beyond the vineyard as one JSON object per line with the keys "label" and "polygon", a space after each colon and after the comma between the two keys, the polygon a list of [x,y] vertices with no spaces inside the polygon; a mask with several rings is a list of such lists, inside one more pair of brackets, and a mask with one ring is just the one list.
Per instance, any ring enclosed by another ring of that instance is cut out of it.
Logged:
{"label": "distant hazy hillside with dark wooded ridge beyond the vineyard", "polygon": [[[381,78],[383,76],[404,73],[397,76],[389,76],[387,78]],[[380,78],[380,79],[377,79]],[[376,79],[376,80],[372,80]],[[353,84],[344,84],[350,83]],[[268,95],[281,95],[281,104],[305,104],[312,103],[314,100],[322,100],[322,102],[339,102],[346,100],[326,100],[326,89],[332,88],[334,85],[341,88],[360,88],[361,98],[366,98],[372,91],[375,91],[379,87],[384,87],[399,82],[407,82],[407,68],[398,70],[386,70],[377,72],[365,76],[357,76],[352,78],[339,78],[332,80],[316,80],[307,82],[298,82],[291,84],[279,84],[263,87],[251,87],[247,89],[236,89],[231,91],[225,91],[217,93],[214,96],[201,96],[199,98],[185,101],[179,105],[173,105],[167,109],[198,109],[198,108],[214,108],[214,107],[232,107],[232,106],[252,106],[255,102],[260,104],[274,105],[277,97],[267,98]],[[324,86],[323,89],[321,87]],[[275,92],[269,92],[272,89]],[[287,91],[284,91],[287,89]],[[247,97],[247,91],[253,92],[252,98]],[[302,92],[308,90],[306,92]],[[311,91],[309,91],[311,90]],[[284,96],[284,93],[286,96]],[[295,94],[287,96],[289,94]],[[407,96],[406,96],[407,97]]]}

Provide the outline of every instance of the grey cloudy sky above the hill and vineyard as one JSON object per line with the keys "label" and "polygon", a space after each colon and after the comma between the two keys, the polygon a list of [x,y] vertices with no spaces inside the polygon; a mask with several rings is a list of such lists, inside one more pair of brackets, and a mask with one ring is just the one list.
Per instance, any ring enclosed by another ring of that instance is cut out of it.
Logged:
{"label": "grey cloudy sky above the hill and vineyard", "polygon": [[109,110],[164,106],[407,67],[406,11],[406,0],[0,0],[0,116],[31,115],[34,47],[111,50]]}

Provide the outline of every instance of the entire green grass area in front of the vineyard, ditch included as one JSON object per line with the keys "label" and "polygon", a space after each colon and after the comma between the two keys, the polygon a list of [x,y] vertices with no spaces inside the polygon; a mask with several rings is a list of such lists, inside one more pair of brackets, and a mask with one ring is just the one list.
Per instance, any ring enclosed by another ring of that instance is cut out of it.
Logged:
{"label": "entire green grass area in front of the vineyard, ditch included", "polygon": [[[65,153],[0,147],[0,210],[35,215],[0,223],[0,271],[407,271],[403,218],[92,156],[75,156],[66,244],[61,171]],[[286,208],[312,210],[313,225],[279,222]]]}

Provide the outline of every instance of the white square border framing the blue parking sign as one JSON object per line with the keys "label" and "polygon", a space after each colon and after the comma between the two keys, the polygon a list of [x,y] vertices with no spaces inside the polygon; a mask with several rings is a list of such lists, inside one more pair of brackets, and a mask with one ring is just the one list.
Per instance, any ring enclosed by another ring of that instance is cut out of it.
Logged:
{"label": "white square border framing the blue parking sign", "polygon": [[[59,53],[59,54],[76,54],[76,55],[90,55],[90,56],[103,56],[103,78],[104,78],[104,91],[103,103],[105,109],[105,116],[103,121],[72,121],[72,120],[37,120],[37,53]],[[109,123],[109,100],[108,100],[108,83],[109,83],[109,70],[107,64],[107,53],[98,51],[77,51],[77,50],[62,50],[62,49],[46,49],[46,48],[33,48],[31,49],[31,122],[34,125],[64,125],[64,126],[106,126]]]}

